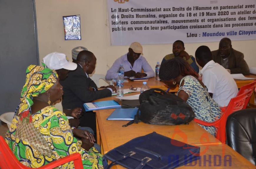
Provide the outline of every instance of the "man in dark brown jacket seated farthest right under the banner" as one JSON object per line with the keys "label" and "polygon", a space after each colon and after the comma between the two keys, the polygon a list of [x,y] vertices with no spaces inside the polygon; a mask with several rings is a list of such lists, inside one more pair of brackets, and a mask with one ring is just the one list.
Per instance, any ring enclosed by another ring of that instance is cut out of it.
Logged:
{"label": "man in dark brown jacket seated farthest right under the banner", "polygon": [[250,75],[250,70],[244,60],[244,54],[233,49],[229,38],[222,38],[219,43],[219,49],[212,51],[212,59],[230,70],[231,74],[242,73]]}

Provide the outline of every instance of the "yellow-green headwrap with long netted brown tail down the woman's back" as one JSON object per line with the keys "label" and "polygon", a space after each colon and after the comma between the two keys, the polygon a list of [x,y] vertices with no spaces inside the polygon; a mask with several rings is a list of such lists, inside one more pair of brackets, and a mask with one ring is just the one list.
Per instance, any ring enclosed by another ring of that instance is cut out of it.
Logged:
{"label": "yellow-green headwrap with long netted brown tail down the woman's back", "polygon": [[55,70],[45,67],[30,65],[26,70],[26,83],[21,90],[20,104],[15,114],[19,116],[16,128],[16,136],[22,141],[27,141],[41,154],[51,156],[52,150],[44,136],[36,129],[32,121],[31,106],[33,97],[46,92],[57,81]]}

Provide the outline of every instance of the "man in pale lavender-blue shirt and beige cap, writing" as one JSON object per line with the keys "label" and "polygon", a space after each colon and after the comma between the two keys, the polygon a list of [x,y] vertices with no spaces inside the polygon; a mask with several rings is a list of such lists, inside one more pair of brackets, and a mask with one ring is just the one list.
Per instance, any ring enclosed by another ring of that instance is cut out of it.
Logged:
{"label": "man in pale lavender-blue shirt and beige cap, writing", "polygon": [[[147,60],[142,56],[142,45],[138,42],[133,42],[129,47],[129,52],[118,58],[110,69],[107,71],[106,80],[116,79],[120,65],[124,67],[125,77],[154,77],[155,72],[148,64]],[[143,69],[143,73],[142,73]]]}

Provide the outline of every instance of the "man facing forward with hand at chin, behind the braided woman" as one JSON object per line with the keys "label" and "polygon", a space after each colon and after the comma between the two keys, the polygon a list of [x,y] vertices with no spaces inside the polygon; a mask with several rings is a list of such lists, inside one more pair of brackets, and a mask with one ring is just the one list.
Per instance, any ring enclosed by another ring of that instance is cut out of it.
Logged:
{"label": "man facing forward with hand at chin, behind the braided woman", "polygon": [[173,59],[175,57],[181,57],[188,62],[188,64],[198,73],[199,67],[197,66],[196,60],[192,55],[189,55],[184,48],[184,43],[181,40],[176,40],[172,45],[172,54],[166,55],[162,62]]}

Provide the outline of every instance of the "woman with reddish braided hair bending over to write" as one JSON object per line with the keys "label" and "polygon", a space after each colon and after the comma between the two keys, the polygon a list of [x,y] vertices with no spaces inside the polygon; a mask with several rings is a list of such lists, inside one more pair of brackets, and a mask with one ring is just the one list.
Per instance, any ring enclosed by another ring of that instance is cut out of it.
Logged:
{"label": "woman with reddish braided hair bending over to write", "polygon": [[[184,59],[176,57],[164,62],[160,67],[159,77],[170,88],[179,85],[177,96],[192,107],[195,118],[206,122],[220,118],[220,107],[210,97],[207,87],[198,79],[198,73]],[[215,136],[215,127],[200,126]]]}

